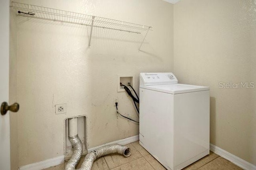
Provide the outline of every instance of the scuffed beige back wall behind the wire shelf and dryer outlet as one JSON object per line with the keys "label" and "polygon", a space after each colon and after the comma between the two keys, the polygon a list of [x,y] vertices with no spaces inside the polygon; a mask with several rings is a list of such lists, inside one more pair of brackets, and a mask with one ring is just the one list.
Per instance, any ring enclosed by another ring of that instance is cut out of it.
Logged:
{"label": "scuffed beige back wall behind the wire shelf and dryer outlet", "polygon": [[[18,166],[64,154],[64,119],[88,117],[88,147],[138,134],[138,125],[116,117],[119,110],[138,119],[126,93],[117,93],[117,74],[173,69],[173,5],[162,0],[16,0],[39,6],[88,13],[153,26],[142,51],[141,38],[113,30],[14,16],[17,51],[11,77],[17,77],[18,121],[12,118],[12,138],[18,142]],[[15,47],[14,47],[15,48]],[[12,63],[12,62],[11,62]],[[17,74],[15,72],[17,69]],[[67,113],[55,115],[55,104],[67,103]],[[16,122],[16,125],[15,125]],[[14,145],[14,144],[12,144]],[[15,150],[14,150],[15,151]],[[14,161],[15,162],[15,161]],[[15,169],[15,168],[14,168]]]}

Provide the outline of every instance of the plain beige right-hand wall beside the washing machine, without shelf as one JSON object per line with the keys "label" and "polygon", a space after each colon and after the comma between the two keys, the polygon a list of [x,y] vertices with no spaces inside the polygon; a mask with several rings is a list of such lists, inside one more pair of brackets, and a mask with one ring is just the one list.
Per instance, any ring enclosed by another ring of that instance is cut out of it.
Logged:
{"label": "plain beige right-hand wall beside the washing machine, without shelf", "polygon": [[210,86],[210,142],[256,165],[256,1],[181,0],[174,5],[174,73]]}

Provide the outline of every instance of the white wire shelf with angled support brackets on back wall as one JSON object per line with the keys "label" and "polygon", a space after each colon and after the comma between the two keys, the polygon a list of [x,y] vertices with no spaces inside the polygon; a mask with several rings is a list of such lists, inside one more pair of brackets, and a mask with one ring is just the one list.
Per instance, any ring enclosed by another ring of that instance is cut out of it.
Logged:
{"label": "white wire shelf with angled support brackets on back wall", "polygon": [[[54,8],[36,6],[31,4],[24,4],[19,2],[12,2],[11,8],[15,9],[18,15],[22,15],[26,17],[58,21],[58,22],[66,22],[71,24],[80,24],[84,26],[91,26],[91,34],[92,34],[93,27],[106,28],[106,29],[130,32],[130,33],[136,33],[136,34],[142,34],[143,32],[146,32],[145,37],[143,39],[143,42],[144,42],[148,31],[152,30],[151,26],[144,26],[144,25],[134,24],[130,22],[112,20],[109,18],[103,18],[103,17],[70,12],[65,10],[58,10]],[[90,39],[91,39],[91,34],[90,34]],[[89,41],[89,46],[90,46],[90,41]]]}

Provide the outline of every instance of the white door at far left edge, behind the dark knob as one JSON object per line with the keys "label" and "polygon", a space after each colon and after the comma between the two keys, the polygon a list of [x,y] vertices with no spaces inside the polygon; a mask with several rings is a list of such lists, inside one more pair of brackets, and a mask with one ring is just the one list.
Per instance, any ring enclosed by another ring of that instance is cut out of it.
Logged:
{"label": "white door at far left edge, behind the dark knob", "polygon": [[[0,0],[0,104],[9,100],[9,0]],[[0,114],[0,170],[10,170],[10,115]]]}

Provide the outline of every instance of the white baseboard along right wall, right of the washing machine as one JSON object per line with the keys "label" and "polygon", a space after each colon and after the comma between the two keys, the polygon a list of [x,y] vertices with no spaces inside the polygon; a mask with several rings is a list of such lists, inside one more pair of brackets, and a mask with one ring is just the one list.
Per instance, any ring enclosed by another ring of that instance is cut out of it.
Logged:
{"label": "white baseboard along right wall, right of the washing machine", "polygon": [[243,168],[244,170],[256,170],[256,166],[254,164],[251,164],[241,158],[239,158],[236,155],[233,155],[226,150],[223,150],[222,148],[219,148],[218,146],[215,146],[214,144],[210,144],[210,150],[221,157],[225,158],[226,160],[229,160],[230,162],[236,164],[240,168]]}

